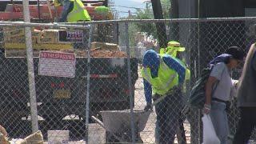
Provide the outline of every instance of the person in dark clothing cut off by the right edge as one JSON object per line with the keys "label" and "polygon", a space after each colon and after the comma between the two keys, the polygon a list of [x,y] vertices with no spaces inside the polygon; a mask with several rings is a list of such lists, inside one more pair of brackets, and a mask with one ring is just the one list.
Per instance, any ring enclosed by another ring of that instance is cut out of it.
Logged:
{"label": "person in dark clothing cut off by the right edge", "polygon": [[250,46],[242,76],[238,82],[238,107],[241,117],[234,135],[233,144],[246,144],[256,126],[256,47]]}

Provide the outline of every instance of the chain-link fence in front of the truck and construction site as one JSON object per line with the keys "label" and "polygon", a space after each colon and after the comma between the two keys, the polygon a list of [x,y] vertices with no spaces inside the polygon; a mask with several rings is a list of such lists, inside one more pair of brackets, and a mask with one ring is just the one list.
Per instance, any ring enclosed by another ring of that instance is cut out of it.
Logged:
{"label": "chain-link fence in front of the truck and construction site", "polygon": [[[0,124],[10,138],[25,138],[32,133],[31,110],[36,110],[38,130],[48,142],[156,143],[164,139],[202,143],[201,110],[182,113],[190,88],[202,68],[229,46],[240,46],[246,54],[255,41],[255,20],[123,20],[77,25],[0,22]],[[166,42],[175,40],[186,47],[181,57],[191,77],[152,112],[145,112],[142,57],[146,50],[159,50],[154,28],[159,22],[166,26]],[[33,72],[27,68],[25,26],[32,31],[36,109],[30,109],[29,76]],[[239,66],[232,78],[238,79],[241,71]],[[227,110],[230,139],[239,118],[235,100]],[[256,135],[251,139],[256,140]]]}

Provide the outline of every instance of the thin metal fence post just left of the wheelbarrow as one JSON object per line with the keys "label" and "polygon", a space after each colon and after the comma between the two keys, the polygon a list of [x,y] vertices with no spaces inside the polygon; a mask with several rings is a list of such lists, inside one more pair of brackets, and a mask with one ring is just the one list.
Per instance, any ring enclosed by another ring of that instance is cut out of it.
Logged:
{"label": "thin metal fence post just left of the wheelbarrow", "polygon": [[87,49],[87,74],[86,74],[86,142],[88,142],[89,134],[89,112],[90,112],[90,41],[92,36],[93,26],[90,24],[89,40],[88,40],[88,49]]}

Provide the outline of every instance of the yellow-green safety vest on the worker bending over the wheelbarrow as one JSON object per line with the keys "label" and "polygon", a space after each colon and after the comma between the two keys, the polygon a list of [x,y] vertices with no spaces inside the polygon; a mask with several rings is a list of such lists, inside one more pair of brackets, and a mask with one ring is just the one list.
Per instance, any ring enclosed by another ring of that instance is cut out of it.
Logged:
{"label": "yellow-green safety vest on the worker bending over the wheelbarrow", "polygon": [[178,74],[175,70],[169,68],[162,60],[160,55],[160,66],[158,68],[158,77],[152,78],[150,68],[142,68],[142,77],[150,82],[153,94],[166,94],[174,86],[178,85]]}

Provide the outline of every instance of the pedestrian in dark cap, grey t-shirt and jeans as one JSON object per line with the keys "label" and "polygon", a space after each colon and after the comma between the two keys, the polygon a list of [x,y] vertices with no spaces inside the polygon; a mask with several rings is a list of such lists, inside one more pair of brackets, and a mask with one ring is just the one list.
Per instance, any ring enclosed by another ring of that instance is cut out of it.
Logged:
{"label": "pedestrian in dark cap, grey t-shirt and jeans", "polygon": [[229,134],[226,106],[230,101],[233,88],[230,72],[238,66],[239,62],[242,62],[243,56],[243,51],[239,47],[233,46],[223,62],[212,63],[213,67],[206,82],[206,100],[202,112],[210,114],[214,130],[221,144],[227,143]]}

